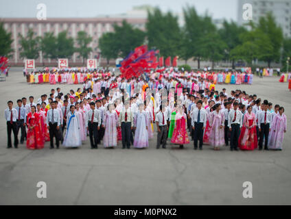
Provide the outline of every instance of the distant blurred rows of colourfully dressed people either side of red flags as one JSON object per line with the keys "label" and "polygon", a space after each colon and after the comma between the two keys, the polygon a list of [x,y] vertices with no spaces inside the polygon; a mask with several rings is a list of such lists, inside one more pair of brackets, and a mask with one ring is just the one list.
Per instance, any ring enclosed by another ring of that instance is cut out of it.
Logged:
{"label": "distant blurred rows of colourfully dressed people either side of red flags", "polygon": [[[67,83],[67,84],[79,84],[84,83],[86,80],[95,81],[102,81],[102,83],[106,83],[105,78],[110,77],[111,73],[108,70],[98,70],[98,69],[86,69],[86,68],[65,68],[65,69],[58,69],[54,68],[49,70],[45,68],[44,70],[35,71],[35,72],[27,72],[23,71],[23,75],[27,78],[27,83],[50,83],[50,84],[57,84],[57,83]],[[184,71],[184,70],[174,70],[174,68],[169,68],[165,71],[165,73],[159,73],[152,71],[150,74],[150,79],[154,80],[156,83],[159,82],[161,77],[172,78],[172,80],[178,78],[184,78],[185,83],[186,80],[189,79],[191,83],[194,83],[194,79],[200,77],[200,79],[205,81],[205,86],[209,87],[211,81],[216,83],[230,83],[230,84],[237,84],[240,85],[242,83],[252,84],[253,83],[253,74],[249,71],[209,71],[209,70],[202,70],[202,71]],[[104,79],[104,80],[102,80]],[[117,77],[118,79],[118,77]],[[120,79],[120,78],[119,78]],[[155,80],[156,79],[156,80]],[[98,82],[97,81],[97,82]],[[183,83],[183,81],[182,81]],[[187,81],[189,83],[189,81]],[[209,85],[208,85],[209,84]],[[187,86],[184,84],[184,86]]]}

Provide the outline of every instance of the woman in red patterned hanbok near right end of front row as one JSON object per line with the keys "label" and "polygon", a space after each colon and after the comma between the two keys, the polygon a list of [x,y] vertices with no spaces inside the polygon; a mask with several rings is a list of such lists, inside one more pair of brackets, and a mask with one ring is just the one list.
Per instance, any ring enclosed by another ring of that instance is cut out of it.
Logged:
{"label": "woman in red patterned hanbok near right end of front row", "polygon": [[253,107],[248,105],[247,112],[244,114],[242,131],[238,139],[238,146],[241,150],[253,151],[257,148],[256,120],[252,109]]}

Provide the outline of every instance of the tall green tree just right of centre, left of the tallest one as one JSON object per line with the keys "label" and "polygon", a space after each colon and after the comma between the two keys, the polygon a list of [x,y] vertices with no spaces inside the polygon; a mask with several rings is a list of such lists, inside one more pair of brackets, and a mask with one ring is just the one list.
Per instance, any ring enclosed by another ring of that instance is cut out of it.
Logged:
{"label": "tall green tree just right of centre, left of the tallest one", "polygon": [[174,57],[181,48],[181,29],[178,26],[178,17],[172,12],[163,14],[159,8],[152,12],[148,10],[146,23],[148,47],[159,49],[165,57]]}

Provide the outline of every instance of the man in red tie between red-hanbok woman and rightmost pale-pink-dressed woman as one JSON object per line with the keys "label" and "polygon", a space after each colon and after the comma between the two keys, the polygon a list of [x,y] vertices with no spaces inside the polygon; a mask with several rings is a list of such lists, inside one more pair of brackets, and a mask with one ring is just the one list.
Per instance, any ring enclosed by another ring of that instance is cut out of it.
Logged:
{"label": "man in red tie between red-hanbok woman and rightmost pale-pink-dressed woman", "polygon": [[268,150],[268,137],[271,120],[272,114],[268,111],[268,101],[264,100],[264,110],[261,110],[257,116],[257,126],[259,128],[259,150],[263,149],[264,137],[265,137],[264,150]]}

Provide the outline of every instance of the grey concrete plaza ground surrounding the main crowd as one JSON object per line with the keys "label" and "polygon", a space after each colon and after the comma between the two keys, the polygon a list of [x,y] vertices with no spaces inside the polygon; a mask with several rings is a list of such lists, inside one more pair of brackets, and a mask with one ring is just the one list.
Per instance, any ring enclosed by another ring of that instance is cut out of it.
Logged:
{"label": "grey concrete plaza ground surrounding the main crowd", "polygon": [[[167,144],[155,149],[156,135],[149,149],[91,150],[89,139],[80,149],[39,151],[6,149],[3,112],[7,101],[62,92],[81,85],[29,85],[21,70],[10,71],[0,82],[0,204],[1,205],[290,205],[291,204],[291,92],[278,77],[254,77],[252,86],[217,86],[226,92],[240,88],[283,105],[288,131],[283,151],[213,151],[205,145],[193,150]],[[47,198],[37,198],[38,181],[47,184]],[[244,198],[244,181],[253,184],[253,198]]]}

